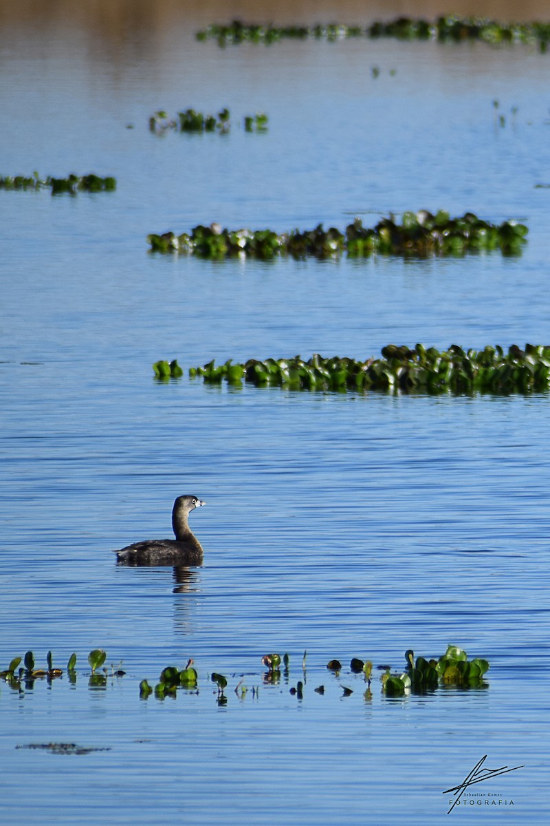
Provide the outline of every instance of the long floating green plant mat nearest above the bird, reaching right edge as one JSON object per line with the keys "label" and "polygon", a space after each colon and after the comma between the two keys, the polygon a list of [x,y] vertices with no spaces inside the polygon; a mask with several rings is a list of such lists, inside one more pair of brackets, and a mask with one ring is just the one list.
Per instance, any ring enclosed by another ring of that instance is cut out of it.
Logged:
{"label": "long floating green plant mat nearest above the bird, reaching right edge", "polygon": [[[157,379],[169,381],[183,371],[177,360],[153,364]],[[382,358],[323,358],[313,354],[308,361],[294,358],[249,358],[244,363],[229,359],[216,365],[190,368],[190,377],[202,376],[205,382],[256,386],[278,385],[293,390],[377,390],[384,392],[420,392],[456,394],[472,392],[529,393],[550,388],[550,346],[526,344],[520,349],[512,344],[505,353],[500,346],[482,350],[453,344],[441,351],[422,344],[414,349],[388,344]]]}

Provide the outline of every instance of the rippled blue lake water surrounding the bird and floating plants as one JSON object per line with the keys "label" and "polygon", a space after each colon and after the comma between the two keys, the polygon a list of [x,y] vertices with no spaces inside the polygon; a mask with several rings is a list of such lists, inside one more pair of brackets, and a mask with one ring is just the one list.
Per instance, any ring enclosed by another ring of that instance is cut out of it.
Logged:
{"label": "rippled blue lake water surrounding the bird and floating plants", "polygon": [[[0,173],[117,178],[73,198],[0,192],[0,668],[29,649],[63,668],[78,653],[76,684],[0,686],[2,818],[439,824],[444,790],[487,754],[523,768],[470,787],[480,796],[449,817],[545,823],[548,396],[158,384],[151,364],[548,344],[550,57],[392,40],[220,50],[195,31],[250,3],[70,9],[29,0],[0,17]],[[319,9],[297,4],[297,19],[402,4]],[[224,106],[228,135],[148,131],[161,108]],[[242,129],[254,112],[266,134]],[[525,221],[524,253],[147,252],[149,232],[211,221],[343,229],[440,207]],[[207,501],[190,517],[204,566],[117,567],[114,548],[170,534],[185,492]],[[390,700],[378,671],[365,694],[348,667],[401,671],[407,648],[448,643],[489,660],[488,687]],[[125,676],[88,687],[92,648]],[[272,684],[274,651],[290,667]],[[188,657],[198,692],[139,700],[140,680]],[[227,705],[211,672],[228,676]],[[47,743],[100,750],[22,748]]]}

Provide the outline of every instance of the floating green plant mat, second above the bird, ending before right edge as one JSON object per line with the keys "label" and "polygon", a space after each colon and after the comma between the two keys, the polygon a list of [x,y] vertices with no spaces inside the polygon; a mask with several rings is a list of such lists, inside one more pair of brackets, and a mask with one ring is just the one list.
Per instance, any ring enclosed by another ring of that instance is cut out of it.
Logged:
{"label": "floating green plant mat, second above the bird, ending before right edge", "polygon": [[518,254],[528,231],[518,221],[491,224],[473,212],[451,218],[444,210],[435,215],[420,210],[404,212],[401,224],[390,215],[372,228],[364,227],[360,218],[355,218],[344,232],[335,227],[324,230],[319,224],[314,230],[292,230],[279,235],[273,230],[227,230],[211,224],[195,226],[190,235],[165,232],[148,235],[147,240],[152,252],[188,253],[209,259],[236,255],[272,259],[285,254],[296,259],[328,258],[343,253],[355,258],[374,253],[425,258],[491,249]]}

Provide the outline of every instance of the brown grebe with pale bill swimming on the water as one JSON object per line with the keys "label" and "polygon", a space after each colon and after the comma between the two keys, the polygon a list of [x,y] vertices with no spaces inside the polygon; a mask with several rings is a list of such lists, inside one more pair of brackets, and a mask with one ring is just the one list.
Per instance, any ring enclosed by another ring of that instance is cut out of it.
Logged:
{"label": "brown grebe with pale bill swimming on the water", "polygon": [[191,533],[187,517],[206,502],[198,496],[178,496],[172,508],[172,529],[176,539],[146,539],[115,551],[125,565],[200,565],[203,549]]}

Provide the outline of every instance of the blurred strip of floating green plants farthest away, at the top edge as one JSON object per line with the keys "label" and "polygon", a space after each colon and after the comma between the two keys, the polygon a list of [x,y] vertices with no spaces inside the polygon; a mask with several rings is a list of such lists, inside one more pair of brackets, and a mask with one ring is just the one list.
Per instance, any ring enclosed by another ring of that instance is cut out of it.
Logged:
{"label": "blurred strip of floating green plants farthest away, at the top edge", "polygon": [[550,23],[501,23],[484,17],[446,15],[427,21],[416,17],[397,17],[391,21],[375,21],[370,26],[347,26],[345,23],[315,26],[262,26],[233,21],[216,23],[196,33],[197,40],[217,40],[220,46],[239,43],[277,43],[279,40],[344,40],[350,37],[394,37],[398,40],[440,40],[460,43],[482,40],[491,45],[527,43],[546,51],[550,42]]}

